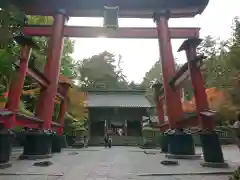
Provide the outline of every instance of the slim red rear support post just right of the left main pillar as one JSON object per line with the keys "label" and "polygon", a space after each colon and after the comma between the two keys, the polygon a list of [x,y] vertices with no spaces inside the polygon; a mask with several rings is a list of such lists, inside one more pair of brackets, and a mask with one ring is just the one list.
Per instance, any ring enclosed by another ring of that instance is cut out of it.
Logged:
{"label": "slim red rear support post just right of the left main pillar", "polygon": [[60,128],[58,129],[58,134],[59,135],[62,135],[63,134],[63,127],[64,127],[64,120],[65,120],[65,115],[66,115],[66,112],[67,112],[67,106],[68,106],[68,97],[67,97],[67,92],[68,92],[68,89],[70,87],[69,84],[61,84],[63,89],[64,89],[64,99],[61,101],[61,105],[60,105],[60,111],[59,111],[59,114],[58,114],[58,121],[59,124],[60,124]]}

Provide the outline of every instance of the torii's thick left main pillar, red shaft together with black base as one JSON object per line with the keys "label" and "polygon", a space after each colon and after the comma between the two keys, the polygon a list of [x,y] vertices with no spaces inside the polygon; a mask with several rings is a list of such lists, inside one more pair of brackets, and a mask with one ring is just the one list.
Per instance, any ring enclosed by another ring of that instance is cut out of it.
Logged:
{"label": "torii's thick left main pillar, red shaft together with black base", "polygon": [[36,108],[36,117],[44,121],[43,129],[27,134],[26,138],[29,139],[29,143],[25,143],[24,158],[48,158],[51,157],[52,154],[52,114],[58,89],[64,40],[63,31],[66,20],[67,16],[65,11],[58,10],[54,16],[48,61],[44,69],[44,75],[48,78],[49,86],[41,89],[39,103]]}

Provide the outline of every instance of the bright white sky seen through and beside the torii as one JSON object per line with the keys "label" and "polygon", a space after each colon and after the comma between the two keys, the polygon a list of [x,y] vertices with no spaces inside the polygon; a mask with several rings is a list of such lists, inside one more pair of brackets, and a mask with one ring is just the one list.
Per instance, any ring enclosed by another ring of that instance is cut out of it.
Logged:
{"label": "bright white sky seen through and beside the torii", "polygon": [[[170,19],[169,27],[200,27],[200,37],[211,35],[226,40],[231,35],[233,18],[240,16],[240,0],[210,0],[207,8],[195,18]],[[102,26],[102,18],[71,18],[68,25]],[[156,27],[152,19],[119,19],[119,27]],[[157,39],[72,38],[75,40],[75,60],[91,57],[103,51],[122,56],[121,67],[127,80],[140,83],[147,71],[159,59]],[[173,54],[178,63],[186,62],[178,53],[183,40],[172,40]]]}

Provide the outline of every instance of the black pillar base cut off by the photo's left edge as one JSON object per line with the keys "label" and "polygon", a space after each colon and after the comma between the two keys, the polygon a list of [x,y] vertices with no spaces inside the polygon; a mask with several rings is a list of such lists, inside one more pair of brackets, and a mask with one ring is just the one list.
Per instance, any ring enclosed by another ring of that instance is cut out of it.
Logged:
{"label": "black pillar base cut off by the photo's left edge", "polygon": [[8,164],[12,152],[12,134],[8,130],[0,132],[0,165]]}

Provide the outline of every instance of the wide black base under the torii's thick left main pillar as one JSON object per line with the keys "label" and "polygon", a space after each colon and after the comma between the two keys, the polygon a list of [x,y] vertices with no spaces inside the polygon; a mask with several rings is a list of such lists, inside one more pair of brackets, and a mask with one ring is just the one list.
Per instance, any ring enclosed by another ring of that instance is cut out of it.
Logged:
{"label": "wide black base under the torii's thick left main pillar", "polygon": [[41,130],[26,132],[22,159],[42,159],[51,157],[52,133]]}

